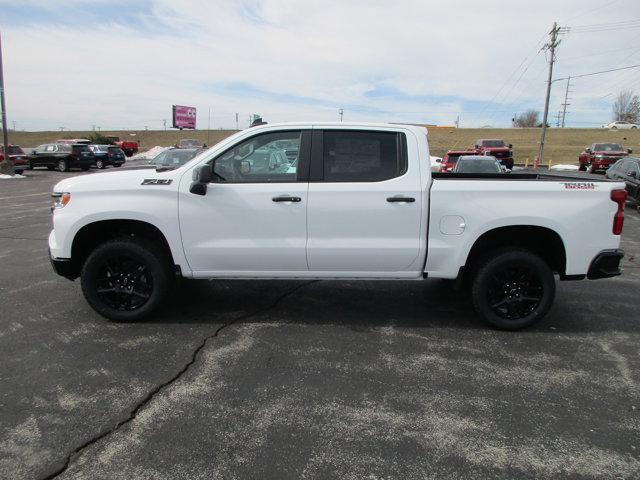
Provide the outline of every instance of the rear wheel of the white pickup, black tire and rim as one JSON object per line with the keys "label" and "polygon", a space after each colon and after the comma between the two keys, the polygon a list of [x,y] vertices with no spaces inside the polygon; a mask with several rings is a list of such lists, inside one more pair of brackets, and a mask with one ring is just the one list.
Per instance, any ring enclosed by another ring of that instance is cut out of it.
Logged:
{"label": "rear wheel of the white pickup, black tire and rim", "polygon": [[520,330],[540,321],[551,308],[556,282],[549,265],[520,248],[496,250],[480,263],[471,297],[476,313],[489,325]]}

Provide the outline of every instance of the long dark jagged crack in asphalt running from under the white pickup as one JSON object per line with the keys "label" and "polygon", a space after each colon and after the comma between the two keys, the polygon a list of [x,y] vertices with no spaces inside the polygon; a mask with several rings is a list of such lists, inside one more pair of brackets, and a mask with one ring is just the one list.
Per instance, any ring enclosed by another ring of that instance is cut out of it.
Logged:
{"label": "long dark jagged crack in asphalt running from under the white pickup", "polygon": [[71,452],[69,452],[66,455],[66,457],[65,457],[65,459],[62,462],[62,465],[60,467],[56,468],[53,472],[48,473],[43,477],[40,477],[40,480],[52,480],[54,478],[57,478],[59,475],[63,474],[71,466],[71,462],[75,458],[77,458],[80,455],[82,455],[83,450],[85,450],[87,447],[90,447],[91,445],[99,442],[103,438],[108,437],[112,433],[117,432],[121,427],[123,427],[124,425],[126,425],[129,422],[131,422],[132,420],[134,420],[136,418],[136,416],[138,415],[138,412],[140,412],[140,410],[142,410],[146,405],[148,405],[153,400],[153,398],[161,390],[163,390],[165,387],[168,387],[169,385],[171,385],[175,381],[179,380],[180,377],[182,377],[182,375],[184,375],[189,370],[189,368],[198,359],[198,354],[207,346],[208,341],[211,340],[212,338],[217,337],[222,330],[224,330],[225,328],[230,327],[230,326],[232,326],[232,325],[234,325],[234,324],[236,324],[236,323],[238,323],[238,322],[240,322],[242,320],[246,320],[246,319],[254,317],[256,315],[260,315],[262,313],[265,313],[265,312],[277,307],[278,304],[280,302],[282,302],[285,298],[293,295],[294,293],[298,292],[302,288],[304,288],[304,287],[306,287],[308,285],[311,285],[313,283],[319,282],[319,281],[320,280],[312,280],[310,282],[306,282],[306,283],[303,283],[301,285],[297,285],[296,287],[291,288],[291,289],[287,290],[286,292],[282,293],[281,295],[279,295],[273,302],[271,302],[266,307],[260,308],[258,310],[253,311],[253,312],[247,313],[245,315],[240,315],[238,318],[236,318],[234,320],[231,320],[230,322],[225,323],[224,325],[221,325],[220,327],[218,327],[210,335],[205,336],[202,339],[202,341],[200,342],[200,344],[195,348],[195,350],[191,354],[191,358],[189,359],[189,361],[187,363],[185,363],[184,366],[173,377],[171,377],[169,380],[166,380],[166,381],[160,383],[155,388],[150,390],[149,393],[147,393],[147,395],[145,395],[138,402],[138,404],[129,412],[129,415],[127,416],[127,418],[125,418],[123,420],[120,420],[113,427],[99,432],[97,435],[94,435],[89,440],[86,440],[81,445],[79,445],[76,448],[74,448]]}

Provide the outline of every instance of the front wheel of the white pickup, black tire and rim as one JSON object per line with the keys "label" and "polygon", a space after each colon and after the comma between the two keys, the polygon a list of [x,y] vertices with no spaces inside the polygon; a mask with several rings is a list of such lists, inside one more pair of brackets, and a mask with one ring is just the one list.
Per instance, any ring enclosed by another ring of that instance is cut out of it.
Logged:
{"label": "front wheel of the white pickup, black tire and rim", "polygon": [[170,262],[151,243],[110,240],[87,258],[80,274],[84,297],[103,317],[134,322],[150,316],[167,297]]}

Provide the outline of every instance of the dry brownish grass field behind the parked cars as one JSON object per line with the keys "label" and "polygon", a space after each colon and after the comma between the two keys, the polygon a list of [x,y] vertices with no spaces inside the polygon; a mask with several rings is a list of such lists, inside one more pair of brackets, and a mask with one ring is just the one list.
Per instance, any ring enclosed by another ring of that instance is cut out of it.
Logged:
{"label": "dry brownish grass field behind the parked cars", "polygon": [[[105,135],[118,135],[120,138],[136,139],[142,150],[156,145],[169,146],[181,138],[196,138],[213,145],[234,133],[233,130],[196,130],[196,131],[120,131],[102,132]],[[135,133],[135,136],[130,136]],[[35,147],[42,143],[53,142],[58,138],[87,138],[91,132],[10,132],[9,141],[23,147]],[[442,156],[452,148],[464,148],[473,145],[478,138],[501,138],[513,144],[516,163],[524,163],[527,158],[533,161],[540,142],[538,128],[432,128],[429,130],[431,154]],[[625,148],[640,153],[640,131],[607,131],[601,129],[551,128],[547,130],[545,163],[577,163],[578,154],[593,142],[619,142]]]}

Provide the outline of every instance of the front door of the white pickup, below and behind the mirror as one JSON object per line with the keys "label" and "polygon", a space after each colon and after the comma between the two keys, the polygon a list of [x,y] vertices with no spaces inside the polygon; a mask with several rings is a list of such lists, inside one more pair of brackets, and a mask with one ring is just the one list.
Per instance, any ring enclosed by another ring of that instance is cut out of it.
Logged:
{"label": "front door of the white pickup, below and behind the mirror", "polygon": [[307,271],[310,131],[261,133],[214,158],[206,195],[180,184],[180,228],[194,276]]}

